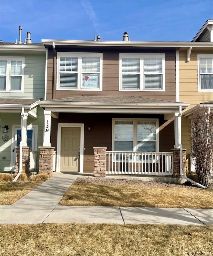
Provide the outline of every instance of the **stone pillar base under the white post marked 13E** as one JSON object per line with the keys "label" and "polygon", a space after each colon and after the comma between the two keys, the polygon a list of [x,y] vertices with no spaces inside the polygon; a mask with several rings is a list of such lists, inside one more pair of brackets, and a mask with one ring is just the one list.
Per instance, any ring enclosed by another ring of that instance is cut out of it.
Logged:
{"label": "stone pillar base under the white post marked 13E", "polygon": [[39,147],[39,173],[53,173],[53,152],[55,147]]}

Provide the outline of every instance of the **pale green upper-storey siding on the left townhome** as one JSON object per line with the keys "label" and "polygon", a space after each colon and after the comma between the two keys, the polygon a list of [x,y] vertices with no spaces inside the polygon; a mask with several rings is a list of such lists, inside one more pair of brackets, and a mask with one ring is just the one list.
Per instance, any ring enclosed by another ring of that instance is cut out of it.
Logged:
{"label": "pale green upper-storey siding on the left townhome", "polygon": [[[2,98],[43,98],[45,90],[45,53],[20,54],[25,57],[24,92],[2,92]],[[1,56],[17,56],[17,54],[1,54]]]}

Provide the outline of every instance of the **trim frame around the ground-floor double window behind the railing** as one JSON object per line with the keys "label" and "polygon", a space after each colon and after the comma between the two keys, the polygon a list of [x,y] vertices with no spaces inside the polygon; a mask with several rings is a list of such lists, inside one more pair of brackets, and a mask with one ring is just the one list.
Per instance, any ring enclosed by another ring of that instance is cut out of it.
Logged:
{"label": "trim frame around the ground-floor double window behind the railing", "polygon": [[[133,121],[133,152],[137,152],[137,121],[156,122],[156,152],[159,152],[159,120],[157,118],[112,118],[112,151],[114,151],[114,123],[115,121]],[[131,141],[131,140],[128,140]]]}

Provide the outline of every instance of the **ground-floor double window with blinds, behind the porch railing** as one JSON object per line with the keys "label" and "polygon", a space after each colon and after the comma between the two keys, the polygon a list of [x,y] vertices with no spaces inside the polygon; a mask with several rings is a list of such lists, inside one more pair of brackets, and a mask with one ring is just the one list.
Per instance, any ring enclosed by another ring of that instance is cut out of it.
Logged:
{"label": "ground-floor double window with blinds, behind the porch railing", "polygon": [[142,119],[113,120],[113,151],[158,151],[158,121]]}

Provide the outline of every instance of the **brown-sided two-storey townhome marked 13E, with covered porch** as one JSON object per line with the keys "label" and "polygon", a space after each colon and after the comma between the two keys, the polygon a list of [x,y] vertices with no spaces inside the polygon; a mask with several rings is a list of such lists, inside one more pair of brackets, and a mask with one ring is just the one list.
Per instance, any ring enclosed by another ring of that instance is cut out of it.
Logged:
{"label": "brown-sided two-storey townhome marked 13E, with covered porch", "polygon": [[48,56],[46,97],[38,102],[45,123],[39,172],[180,182],[181,113],[189,103],[178,99],[178,50],[210,44],[129,41],[126,32],[121,41],[42,42]]}

